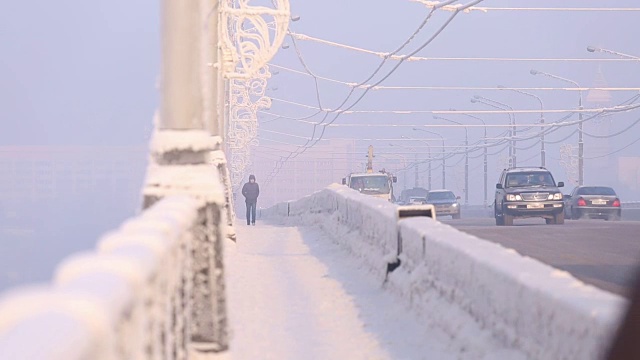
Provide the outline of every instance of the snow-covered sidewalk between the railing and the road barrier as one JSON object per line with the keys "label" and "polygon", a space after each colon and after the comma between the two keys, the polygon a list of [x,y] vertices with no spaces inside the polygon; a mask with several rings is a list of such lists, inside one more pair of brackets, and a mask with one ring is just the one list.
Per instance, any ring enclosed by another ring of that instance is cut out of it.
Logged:
{"label": "snow-covered sidewalk between the railing and the road barrier", "polygon": [[238,222],[237,235],[225,246],[232,359],[460,358],[321,230]]}

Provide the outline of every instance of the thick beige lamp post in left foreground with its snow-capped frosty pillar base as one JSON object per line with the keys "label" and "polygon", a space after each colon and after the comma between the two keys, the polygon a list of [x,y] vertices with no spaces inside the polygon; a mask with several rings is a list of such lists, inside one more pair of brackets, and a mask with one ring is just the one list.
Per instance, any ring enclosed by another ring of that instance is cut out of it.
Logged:
{"label": "thick beige lamp post in left foreground with its snow-capped frosty pillar base", "polygon": [[[184,305],[176,324],[182,327],[189,348],[208,352],[228,349],[222,238],[225,235],[225,197],[220,173],[209,165],[212,152],[219,150],[209,127],[204,100],[203,76],[206,43],[205,21],[210,21],[197,1],[162,2],[163,42],[161,104],[157,129],[151,140],[151,159],[143,189],[143,207],[149,208],[169,196],[186,196],[199,203],[197,226],[191,231],[190,259],[179,281],[183,291],[172,294]],[[207,59],[208,60],[208,59]],[[211,94],[215,96],[215,91]],[[209,107],[207,110],[211,110]],[[224,158],[224,155],[222,155]]]}

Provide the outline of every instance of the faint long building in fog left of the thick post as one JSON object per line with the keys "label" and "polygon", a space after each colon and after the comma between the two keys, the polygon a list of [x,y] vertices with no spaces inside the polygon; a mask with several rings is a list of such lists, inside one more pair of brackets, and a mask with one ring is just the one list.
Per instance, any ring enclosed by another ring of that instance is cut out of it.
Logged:
{"label": "faint long building in fog left of the thick post", "polygon": [[142,146],[3,146],[0,201],[38,202],[98,192],[136,196],[147,153]]}

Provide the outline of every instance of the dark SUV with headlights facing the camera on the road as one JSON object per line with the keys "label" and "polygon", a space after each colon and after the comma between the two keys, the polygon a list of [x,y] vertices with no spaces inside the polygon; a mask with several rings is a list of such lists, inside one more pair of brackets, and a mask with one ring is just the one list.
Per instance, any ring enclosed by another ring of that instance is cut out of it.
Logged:
{"label": "dark SUV with headlights facing the camera on the road", "polygon": [[493,203],[496,225],[513,225],[516,218],[542,217],[547,224],[564,224],[564,202],[551,172],[545,168],[503,170]]}

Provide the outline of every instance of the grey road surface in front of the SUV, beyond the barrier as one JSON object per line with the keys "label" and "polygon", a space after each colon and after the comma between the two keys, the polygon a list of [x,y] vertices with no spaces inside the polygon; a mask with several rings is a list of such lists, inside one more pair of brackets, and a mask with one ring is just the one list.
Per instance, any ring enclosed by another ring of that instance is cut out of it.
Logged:
{"label": "grey road surface in front of the SUV, beyond the barrier", "polygon": [[496,226],[493,218],[442,219],[466,233],[515,249],[601,289],[628,296],[640,264],[640,222],[543,219]]}

